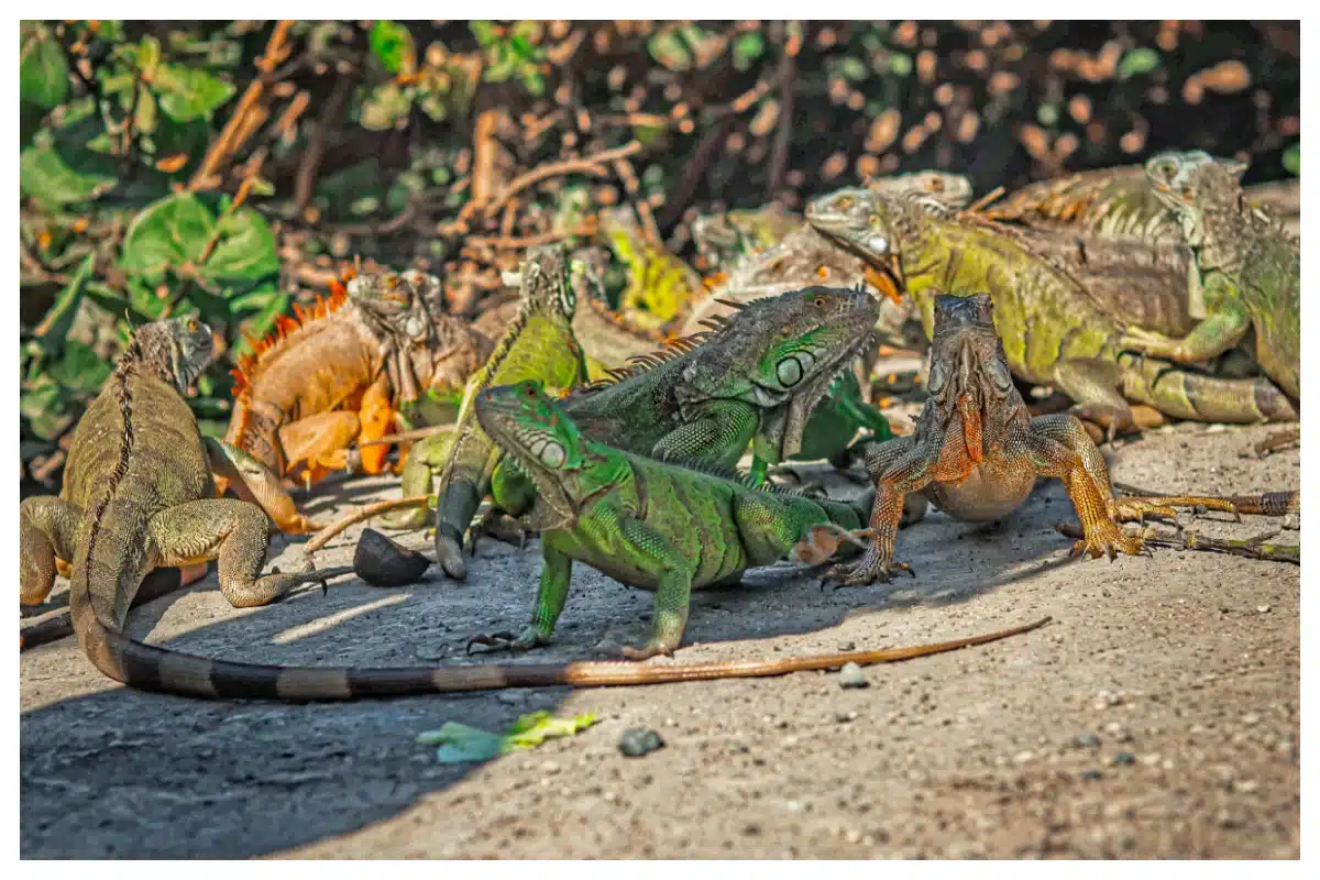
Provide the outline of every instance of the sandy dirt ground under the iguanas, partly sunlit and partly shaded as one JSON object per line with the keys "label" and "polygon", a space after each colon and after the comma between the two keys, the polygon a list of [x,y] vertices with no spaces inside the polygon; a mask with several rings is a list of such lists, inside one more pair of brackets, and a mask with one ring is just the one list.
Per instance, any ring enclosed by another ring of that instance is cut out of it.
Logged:
{"label": "sandy dirt ground under the iguanas, partly sunlit and partly shaded", "polygon": [[[1267,433],[1181,425],[1109,458],[1114,479],[1160,491],[1298,487],[1296,450],[1238,458]],[[309,507],[329,516],[392,491],[352,482]],[[1195,528],[1247,537],[1278,525],[1216,516]],[[21,852],[1299,858],[1299,569],[1172,550],[1069,561],[1071,542],[1052,528],[1064,520],[1074,521],[1067,495],[1045,483],[998,526],[935,513],[900,532],[915,579],[822,592],[818,575],[759,570],[694,595],[684,661],[899,646],[1055,619],[991,645],[869,668],[866,689],[801,673],[213,703],[125,690],[65,639],[21,654]],[[342,536],[322,565],[347,562],[356,536]],[[1298,532],[1279,537],[1299,542]],[[429,553],[420,533],[405,544]],[[213,573],[139,608],[131,632],[256,662],[462,662],[470,633],[524,624],[539,570],[535,542],[488,542],[462,584],[437,569],[403,590],[347,578],[327,596],[249,611],[224,602]],[[51,599],[62,602],[63,587]],[[640,643],[649,608],[651,594],[576,566],[558,643],[536,660]],[[441,765],[414,743],[446,720],[502,730],[537,708],[602,720],[483,765]],[[618,743],[631,727],[657,731],[665,747],[624,757]]]}

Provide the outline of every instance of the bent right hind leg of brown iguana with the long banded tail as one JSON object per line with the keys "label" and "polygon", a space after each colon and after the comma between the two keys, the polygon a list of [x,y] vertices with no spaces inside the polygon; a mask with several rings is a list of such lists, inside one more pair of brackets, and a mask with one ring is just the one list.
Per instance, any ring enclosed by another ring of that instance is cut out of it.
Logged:
{"label": "bent right hind leg of brown iguana with the long banded tail", "polygon": [[271,542],[265,515],[235,499],[202,499],[172,507],[153,516],[147,532],[157,566],[219,559],[220,592],[235,608],[269,604],[293,587],[352,573],[351,566],[343,566],[259,577]]}

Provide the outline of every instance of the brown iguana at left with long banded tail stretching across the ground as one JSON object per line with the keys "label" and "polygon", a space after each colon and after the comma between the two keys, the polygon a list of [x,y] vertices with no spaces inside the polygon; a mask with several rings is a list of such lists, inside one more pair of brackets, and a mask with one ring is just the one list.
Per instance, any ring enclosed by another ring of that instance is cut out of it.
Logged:
{"label": "brown iguana at left with long banded tail stretching across the ground", "polygon": [[55,561],[73,559],[70,611],[91,662],[143,690],[203,698],[350,699],[503,687],[648,685],[783,676],[875,664],[985,644],[1045,620],[957,641],[888,650],[706,664],[570,662],[404,669],[263,666],[227,662],[129,639],[124,619],[154,566],[219,558],[220,590],[238,607],[351,571],[257,577],[268,520],[256,507],[213,497],[209,450],[181,391],[213,355],[211,331],[183,318],[140,327],[74,431],[62,497],[29,497],[18,512],[20,600],[45,599]]}

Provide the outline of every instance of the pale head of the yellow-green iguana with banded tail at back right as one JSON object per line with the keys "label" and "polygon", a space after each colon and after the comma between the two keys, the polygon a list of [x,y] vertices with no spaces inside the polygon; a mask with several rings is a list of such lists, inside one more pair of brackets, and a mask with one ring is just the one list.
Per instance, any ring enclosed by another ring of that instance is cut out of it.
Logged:
{"label": "pale head of the yellow-green iguana with banded tail at back right", "polygon": [[[898,201],[859,186],[822,195],[807,204],[807,222],[821,235],[878,269],[890,296],[903,290],[902,249],[896,219]],[[883,290],[883,288],[882,288]]]}

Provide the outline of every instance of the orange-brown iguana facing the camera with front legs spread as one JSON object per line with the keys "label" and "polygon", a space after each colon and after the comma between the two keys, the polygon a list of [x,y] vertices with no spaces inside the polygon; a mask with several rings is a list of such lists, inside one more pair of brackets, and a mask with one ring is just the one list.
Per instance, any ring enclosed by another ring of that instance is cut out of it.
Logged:
{"label": "orange-brown iguana facing the camera with front legs spread", "polygon": [[1073,553],[1107,553],[1110,559],[1117,551],[1142,551],[1140,538],[1122,534],[1115,520],[1171,517],[1172,505],[1233,511],[1212,497],[1115,500],[1105,459],[1077,418],[1028,416],[995,335],[990,294],[933,299],[931,398],[912,434],[867,450],[866,471],[876,489],[869,524],[873,542],[862,559],[834,566],[826,579],[862,584],[887,582],[895,571],[912,574],[911,566],[894,561],[909,493],[958,520],[997,520],[1027,500],[1038,478],[1053,476],[1063,480],[1081,519],[1084,538]]}

